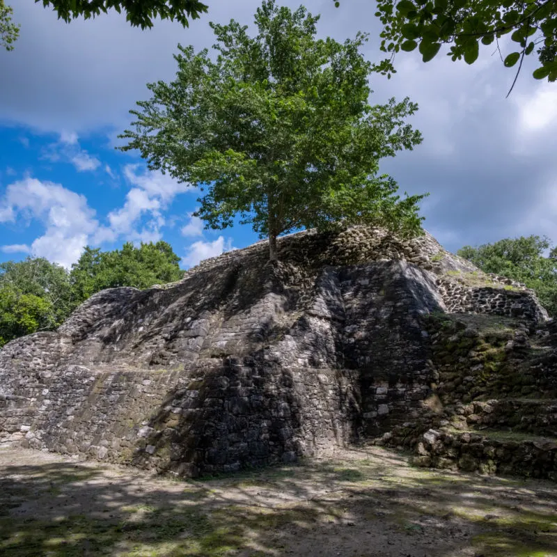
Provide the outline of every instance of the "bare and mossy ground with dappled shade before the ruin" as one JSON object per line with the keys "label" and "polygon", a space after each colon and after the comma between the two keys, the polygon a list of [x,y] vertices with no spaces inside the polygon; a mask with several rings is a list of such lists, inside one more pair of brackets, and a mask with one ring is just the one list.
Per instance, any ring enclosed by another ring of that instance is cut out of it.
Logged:
{"label": "bare and mossy ground with dappled shade before the ruin", "polygon": [[0,449],[0,555],[557,556],[557,485],[382,448],[196,481]]}

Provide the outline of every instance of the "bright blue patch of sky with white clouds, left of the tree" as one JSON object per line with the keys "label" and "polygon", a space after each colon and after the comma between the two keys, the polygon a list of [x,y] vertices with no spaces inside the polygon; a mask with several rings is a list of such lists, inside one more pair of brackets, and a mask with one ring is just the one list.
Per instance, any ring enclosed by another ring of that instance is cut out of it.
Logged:
{"label": "bright blue patch of sky with white clouds, left of the tree", "polygon": [[70,267],[85,245],[165,240],[189,267],[258,238],[247,226],[204,230],[191,216],[198,191],[150,172],[137,155],[116,150],[107,134],[0,128],[0,260],[42,256]]}

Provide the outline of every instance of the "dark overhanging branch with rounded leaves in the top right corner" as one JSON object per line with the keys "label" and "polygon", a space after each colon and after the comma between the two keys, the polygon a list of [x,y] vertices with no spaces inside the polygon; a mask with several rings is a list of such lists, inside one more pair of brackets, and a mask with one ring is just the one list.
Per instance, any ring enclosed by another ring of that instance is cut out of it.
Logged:
{"label": "dark overhanging branch with rounded leaves in the top right corner", "polygon": [[395,72],[393,58],[401,50],[417,48],[428,62],[447,44],[453,61],[472,64],[480,42],[499,50],[499,39],[511,33],[513,52],[503,58],[499,50],[505,67],[519,63],[518,76],[524,56],[535,52],[540,65],[533,77],[557,79],[557,0],[377,0],[375,15],[384,25],[381,50],[391,57],[374,69],[387,77]]}

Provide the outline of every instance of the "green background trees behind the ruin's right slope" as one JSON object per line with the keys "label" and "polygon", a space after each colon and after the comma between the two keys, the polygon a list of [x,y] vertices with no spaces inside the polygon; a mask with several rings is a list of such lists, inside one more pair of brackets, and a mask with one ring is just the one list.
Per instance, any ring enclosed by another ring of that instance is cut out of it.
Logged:
{"label": "green background trees behind the ruin's right slope", "polygon": [[[544,251],[549,256],[544,256]],[[508,276],[535,290],[551,317],[557,317],[557,249],[547,237],[505,238],[494,244],[464,246],[457,255],[486,273]]]}

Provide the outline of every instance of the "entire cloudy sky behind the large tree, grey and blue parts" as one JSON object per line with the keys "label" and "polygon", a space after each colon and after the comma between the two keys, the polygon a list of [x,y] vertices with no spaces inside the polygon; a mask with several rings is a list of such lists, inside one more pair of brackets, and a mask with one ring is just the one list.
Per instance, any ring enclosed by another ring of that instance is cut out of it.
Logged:
{"label": "entire cloudy sky behind the large tree, grey and blue parts", "polygon": [[[173,79],[178,42],[210,47],[208,22],[252,24],[259,1],[214,0],[189,29],[157,20],[148,31],[113,10],[65,24],[42,3],[8,3],[22,27],[15,50],[0,52],[0,260],[31,254],[70,267],[86,244],[162,239],[189,267],[257,240],[247,226],[203,230],[190,215],[196,191],[114,146],[128,111],[150,96],[146,84]],[[305,4],[322,14],[320,36],[369,31],[366,56],[380,59],[372,2]],[[501,43],[503,55],[508,48]],[[508,99],[513,70],[488,47],[472,66],[404,53],[393,79],[372,77],[370,102],[409,96],[419,104],[410,121],[423,144],[382,162],[382,171],[401,193],[430,192],[425,228],[447,249],[528,234],[557,241],[557,85],[533,80],[534,64],[526,62]]]}

